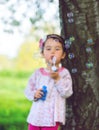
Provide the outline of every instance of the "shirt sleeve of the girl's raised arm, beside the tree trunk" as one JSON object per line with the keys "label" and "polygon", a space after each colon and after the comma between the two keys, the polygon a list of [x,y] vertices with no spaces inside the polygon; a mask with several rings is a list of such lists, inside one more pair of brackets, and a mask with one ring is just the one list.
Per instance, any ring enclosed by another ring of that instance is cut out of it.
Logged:
{"label": "shirt sleeve of the girl's raised arm, beside the tree trunk", "polygon": [[63,98],[68,98],[73,94],[72,78],[67,69],[63,71],[60,80],[55,83],[55,87]]}

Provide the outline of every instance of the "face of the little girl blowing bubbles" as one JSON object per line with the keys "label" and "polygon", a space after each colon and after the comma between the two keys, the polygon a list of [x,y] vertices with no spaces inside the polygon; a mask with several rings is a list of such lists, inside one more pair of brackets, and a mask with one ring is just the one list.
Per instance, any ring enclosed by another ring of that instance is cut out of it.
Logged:
{"label": "face of the little girl blowing bubbles", "polygon": [[47,63],[52,63],[52,58],[56,57],[56,65],[65,57],[66,53],[63,52],[62,44],[53,38],[47,39],[44,45],[43,57]]}

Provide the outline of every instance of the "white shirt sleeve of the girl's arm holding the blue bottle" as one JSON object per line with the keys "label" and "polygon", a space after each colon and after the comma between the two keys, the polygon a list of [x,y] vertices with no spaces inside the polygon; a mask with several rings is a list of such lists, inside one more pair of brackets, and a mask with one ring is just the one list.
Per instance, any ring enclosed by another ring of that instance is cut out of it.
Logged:
{"label": "white shirt sleeve of the girl's arm holding the blue bottle", "polygon": [[36,72],[29,78],[28,84],[24,90],[25,96],[28,100],[32,101],[36,92]]}

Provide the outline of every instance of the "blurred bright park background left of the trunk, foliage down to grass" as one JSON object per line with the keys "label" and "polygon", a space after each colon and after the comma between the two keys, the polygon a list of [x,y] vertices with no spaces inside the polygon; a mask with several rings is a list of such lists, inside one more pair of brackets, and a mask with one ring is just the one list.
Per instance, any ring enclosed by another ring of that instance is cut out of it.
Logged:
{"label": "blurred bright park background left of the trunk, foliage down to grass", "polygon": [[57,12],[57,1],[0,1],[0,130],[27,130],[31,102],[24,89],[33,71],[45,66],[39,39],[60,33]]}

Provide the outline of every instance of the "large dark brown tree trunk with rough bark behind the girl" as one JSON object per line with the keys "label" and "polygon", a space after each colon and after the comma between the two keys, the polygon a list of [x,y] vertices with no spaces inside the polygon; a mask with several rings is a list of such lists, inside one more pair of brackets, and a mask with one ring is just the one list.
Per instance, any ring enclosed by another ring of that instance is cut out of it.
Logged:
{"label": "large dark brown tree trunk with rough bark behind the girl", "polygon": [[74,94],[63,130],[99,130],[99,1],[59,0]]}

